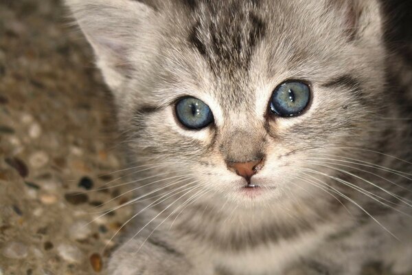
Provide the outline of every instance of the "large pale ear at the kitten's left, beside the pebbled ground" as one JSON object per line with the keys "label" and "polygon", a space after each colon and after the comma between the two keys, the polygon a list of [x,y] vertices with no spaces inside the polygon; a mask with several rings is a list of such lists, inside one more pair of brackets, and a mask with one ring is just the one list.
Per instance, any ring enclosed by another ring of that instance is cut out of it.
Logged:
{"label": "large pale ear at the kitten's left, beside the pebbled ground", "polygon": [[133,50],[144,43],[155,10],[135,0],[65,2],[92,45],[106,83],[116,90],[135,69]]}

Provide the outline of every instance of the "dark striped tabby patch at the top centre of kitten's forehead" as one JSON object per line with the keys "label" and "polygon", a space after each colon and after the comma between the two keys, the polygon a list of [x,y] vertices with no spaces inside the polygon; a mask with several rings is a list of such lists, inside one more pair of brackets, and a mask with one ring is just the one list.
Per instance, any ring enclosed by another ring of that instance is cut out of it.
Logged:
{"label": "dark striped tabby patch at the top centre of kitten's forehead", "polygon": [[[222,72],[222,67],[248,69],[253,49],[264,38],[266,24],[237,1],[220,5],[214,2],[209,6],[211,19],[196,21],[187,41],[206,59],[212,72]],[[225,12],[218,15],[217,9]]]}

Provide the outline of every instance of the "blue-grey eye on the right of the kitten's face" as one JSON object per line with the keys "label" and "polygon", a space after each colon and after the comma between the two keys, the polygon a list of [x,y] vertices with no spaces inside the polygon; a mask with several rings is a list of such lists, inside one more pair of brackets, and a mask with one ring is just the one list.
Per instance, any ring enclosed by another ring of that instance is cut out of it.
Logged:
{"label": "blue-grey eye on the right of the kitten's face", "polygon": [[290,81],[277,86],[271,98],[271,111],[283,117],[299,115],[310,101],[310,88],[305,83]]}

